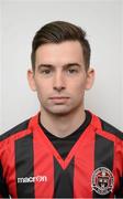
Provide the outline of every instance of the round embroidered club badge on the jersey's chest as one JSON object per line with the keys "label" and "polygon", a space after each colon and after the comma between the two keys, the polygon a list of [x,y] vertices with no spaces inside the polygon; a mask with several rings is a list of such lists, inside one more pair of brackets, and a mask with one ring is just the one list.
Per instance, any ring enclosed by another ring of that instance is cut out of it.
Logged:
{"label": "round embroidered club badge on the jersey's chest", "polygon": [[91,187],[99,195],[108,195],[112,192],[114,186],[114,177],[110,169],[105,167],[97,168],[91,178]]}

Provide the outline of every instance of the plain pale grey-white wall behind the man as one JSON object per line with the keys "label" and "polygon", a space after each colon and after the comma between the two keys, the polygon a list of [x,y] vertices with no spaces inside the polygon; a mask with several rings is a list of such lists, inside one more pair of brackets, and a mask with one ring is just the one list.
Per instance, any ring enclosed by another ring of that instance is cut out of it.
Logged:
{"label": "plain pale grey-white wall behind the man", "polygon": [[122,0],[1,0],[0,133],[38,112],[26,81],[31,43],[45,23],[66,20],[87,31],[96,82],[86,108],[123,129]]}

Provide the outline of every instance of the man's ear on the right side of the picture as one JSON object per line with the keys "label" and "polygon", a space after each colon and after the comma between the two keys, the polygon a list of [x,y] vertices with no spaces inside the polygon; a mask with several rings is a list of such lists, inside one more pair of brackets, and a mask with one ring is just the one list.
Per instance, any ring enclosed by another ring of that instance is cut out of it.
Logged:
{"label": "man's ear on the right side of the picture", "polygon": [[94,82],[94,70],[93,69],[89,69],[87,71],[87,80],[86,80],[86,90],[90,90],[93,85]]}

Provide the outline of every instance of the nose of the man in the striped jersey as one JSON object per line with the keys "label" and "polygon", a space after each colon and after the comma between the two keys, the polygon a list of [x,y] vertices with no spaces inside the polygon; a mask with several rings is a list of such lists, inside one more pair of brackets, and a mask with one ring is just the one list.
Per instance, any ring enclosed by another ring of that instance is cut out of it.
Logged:
{"label": "nose of the man in the striped jersey", "polygon": [[62,92],[66,87],[65,83],[65,76],[62,72],[57,72],[54,76],[54,83],[53,83],[54,90],[57,92]]}

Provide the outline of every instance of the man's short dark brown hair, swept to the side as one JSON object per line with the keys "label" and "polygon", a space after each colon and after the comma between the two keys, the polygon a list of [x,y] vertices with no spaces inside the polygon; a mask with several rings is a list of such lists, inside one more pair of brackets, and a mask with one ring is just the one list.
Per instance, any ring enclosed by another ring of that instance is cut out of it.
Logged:
{"label": "man's short dark brown hair, swept to the side", "polygon": [[32,42],[32,69],[35,71],[35,52],[38,46],[47,43],[62,43],[64,41],[79,41],[83,50],[86,70],[90,64],[90,44],[86,39],[86,32],[72,23],[54,21],[42,27]]}

